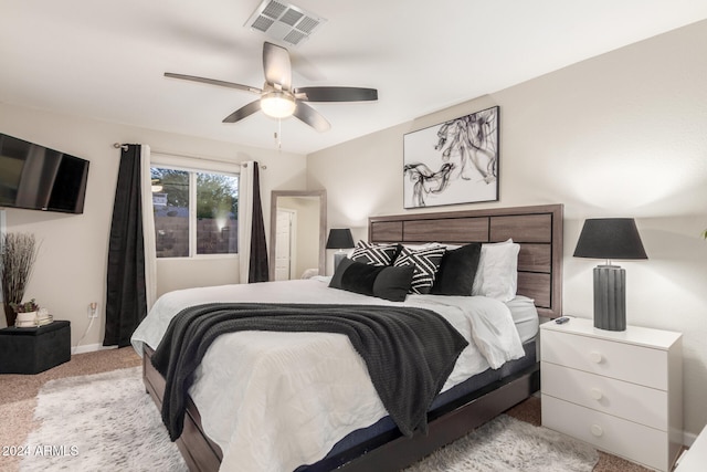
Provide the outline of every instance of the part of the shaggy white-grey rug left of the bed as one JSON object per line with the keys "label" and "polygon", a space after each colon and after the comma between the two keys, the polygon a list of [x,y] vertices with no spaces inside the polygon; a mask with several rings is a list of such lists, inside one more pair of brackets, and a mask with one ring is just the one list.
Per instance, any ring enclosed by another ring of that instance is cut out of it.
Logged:
{"label": "part of the shaggy white-grey rug left of the bed", "polygon": [[46,382],[20,471],[187,471],[140,367]]}

